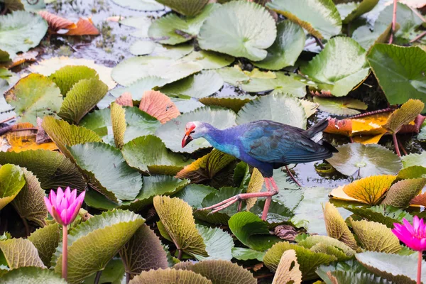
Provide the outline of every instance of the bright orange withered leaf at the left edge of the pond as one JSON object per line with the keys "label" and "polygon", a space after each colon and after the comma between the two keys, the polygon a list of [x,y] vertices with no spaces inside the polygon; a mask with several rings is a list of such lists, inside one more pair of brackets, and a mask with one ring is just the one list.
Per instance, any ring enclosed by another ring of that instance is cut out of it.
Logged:
{"label": "bright orange withered leaf at the left edge of the pond", "polygon": [[[28,130],[16,131],[17,129]],[[9,142],[9,145],[11,146],[11,148],[8,149],[9,152],[18,153],[21,151],[38,149],[54,151],[58,149],[58,147],[56,147],[55,143],[53,142],[42,144],[36,143],[35,140],[37,137],[37,129],[34,128],[33,124],[30,124],[28,122],[23,124],[15,124],[12,130],[15,131],[10,131],[6,133],[6,139]]]}

